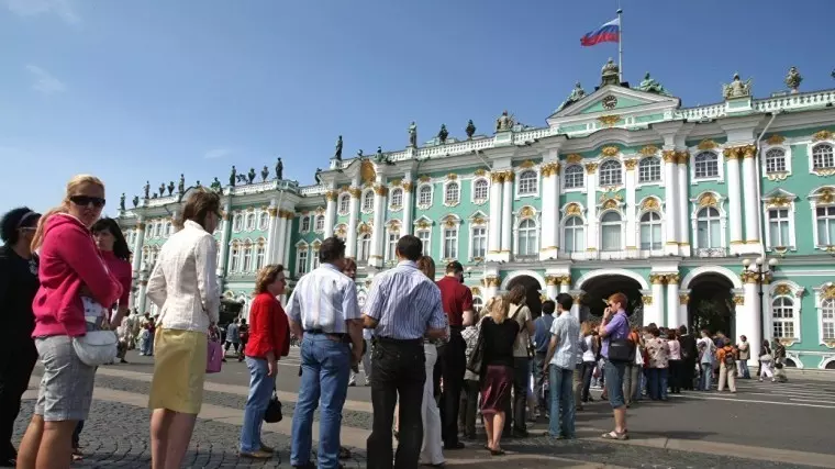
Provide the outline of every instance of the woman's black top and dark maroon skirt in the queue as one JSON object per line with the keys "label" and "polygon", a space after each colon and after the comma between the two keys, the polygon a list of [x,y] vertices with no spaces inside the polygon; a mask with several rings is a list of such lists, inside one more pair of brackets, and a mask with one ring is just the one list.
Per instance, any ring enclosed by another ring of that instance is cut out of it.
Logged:
{"label": "woman's black top and dark maroon skirt in the queue", "polygon": [[513,343],[519,334],[519,323],[504,320],[501,324],[485,317],[483,371],[481,372],[481,414],[504,412],[513,389]]}

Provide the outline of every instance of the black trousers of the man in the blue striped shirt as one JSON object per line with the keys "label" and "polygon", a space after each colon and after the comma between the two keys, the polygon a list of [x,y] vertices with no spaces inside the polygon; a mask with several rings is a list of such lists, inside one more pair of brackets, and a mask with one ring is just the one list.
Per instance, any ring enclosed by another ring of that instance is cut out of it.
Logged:
{"label": "black trousers of the man in the blue striped shirt", "polygon": [[[416,469],[423,444],[423,384],[426,382],[426,357],[423,339],[394,340],[377,338],[371,351],[371,404],[374,424],[368,437],[369,469]],[[391,428],[394,405],[400,399],[399,445],[394,465]]]}

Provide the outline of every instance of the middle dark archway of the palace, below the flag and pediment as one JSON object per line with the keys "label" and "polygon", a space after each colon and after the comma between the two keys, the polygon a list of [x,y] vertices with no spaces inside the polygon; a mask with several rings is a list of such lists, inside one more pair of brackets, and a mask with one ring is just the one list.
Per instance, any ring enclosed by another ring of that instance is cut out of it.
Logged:
{"label": "middle dark archway of the palace, below the flag and pediment", "polygon": [[641,326],[644,321],[644,300],[641,294],[641,283],[626,276],[601,276],[587,280],[581,289],[583,291],[580,308],[580,321],[600,321],[603,317],[605,300],[614,293],[626,295],[626,315],[630,324]]}

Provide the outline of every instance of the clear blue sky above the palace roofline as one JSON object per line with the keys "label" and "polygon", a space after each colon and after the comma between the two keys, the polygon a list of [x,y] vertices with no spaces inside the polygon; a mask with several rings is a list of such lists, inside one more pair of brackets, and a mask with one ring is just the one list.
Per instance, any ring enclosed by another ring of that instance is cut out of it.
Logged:
{"label": "clear blue sky above the palace roofline", "polygon": [[[119,194],[146,179],[227,180],[231,165],[312,183],[345,156],[426,141],[503,109],[528,125],[587,91],[615,44],[579,40],[616,0],[0,0],[0,211],[46,210],[75,174]],[[802,7],[801,7],[802,4]],[[625,79],[647,70],[684,105],[734,71],[758,97],[835,88],[835,1],[623,0]],[[129,202],[130,205],[130,202]]]}

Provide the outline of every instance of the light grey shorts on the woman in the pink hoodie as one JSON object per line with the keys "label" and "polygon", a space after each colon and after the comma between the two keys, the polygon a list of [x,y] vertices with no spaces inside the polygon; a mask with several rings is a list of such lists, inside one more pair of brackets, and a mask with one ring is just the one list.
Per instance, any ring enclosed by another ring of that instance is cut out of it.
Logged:
{"label": "light grey shorts on the woman in the pink hoodie", "polygon": [[46,422],[86,420],[92,402],[96,367],[78,358],[73,338],[66,335],[38,337],[35,347],[44,366],[35,414]]}

